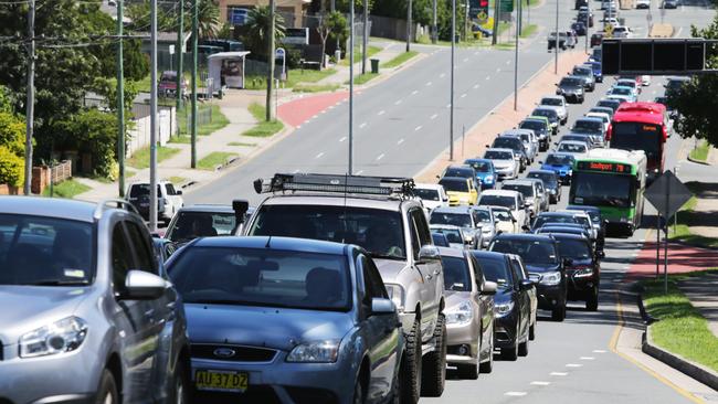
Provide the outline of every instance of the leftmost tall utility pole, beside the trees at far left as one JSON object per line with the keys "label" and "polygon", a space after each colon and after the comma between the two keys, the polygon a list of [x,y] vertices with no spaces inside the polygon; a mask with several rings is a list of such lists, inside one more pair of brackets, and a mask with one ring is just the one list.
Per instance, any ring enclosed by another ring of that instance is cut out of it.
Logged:
{"label": "leftmost tall utility pole, beside the trees at far left", "polygon": [[23,192],[32,192],[32,132],[35,114],[35,0],[30,0],[28,10],[28,105],[25,106],[25,181]]}

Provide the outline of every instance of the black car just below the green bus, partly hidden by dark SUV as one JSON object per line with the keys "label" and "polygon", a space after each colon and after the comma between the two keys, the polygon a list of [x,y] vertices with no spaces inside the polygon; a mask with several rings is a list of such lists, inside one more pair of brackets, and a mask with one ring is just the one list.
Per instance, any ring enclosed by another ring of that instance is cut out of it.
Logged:
{"label": "black car just below the green bus, partly hidden by dark SUV", "polygon": [[601,257],[603,252],[595,252],[591,241],[584,236],[553,233],[559,244],[559,254],[569,258],[566,277],[569,281],[569,300],[585,301],[585,309],[599,309],[599,285],[601,283]]}

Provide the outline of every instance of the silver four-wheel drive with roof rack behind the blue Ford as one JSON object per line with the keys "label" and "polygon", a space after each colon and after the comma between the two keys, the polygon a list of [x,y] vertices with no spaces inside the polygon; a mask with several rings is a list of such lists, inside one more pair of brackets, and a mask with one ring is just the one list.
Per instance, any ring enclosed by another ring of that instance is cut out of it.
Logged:
{"label": "silver four-wheel drive with roof rack behind the blue Ford", "polygon": [[412,383],[401,392],[403,402],[415,403],[420,393],[440,396],[444,391],[446,325],[441,256],[413,187],[411,179],[275,174],[255,181],[257,193],[274,195],[256,209],[244,234],[367,249],[399,310],[406,340],[402,369]]}

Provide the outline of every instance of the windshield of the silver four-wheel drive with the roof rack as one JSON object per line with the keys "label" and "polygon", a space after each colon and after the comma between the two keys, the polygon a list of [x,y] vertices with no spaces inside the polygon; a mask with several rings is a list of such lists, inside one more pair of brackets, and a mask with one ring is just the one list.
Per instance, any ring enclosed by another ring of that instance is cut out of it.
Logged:
{"label": "windshield of the silver four-wheel drive with the roof rack", "polygon": [[247,235],[357,244],[374,256],[405,259],[401,213],[380,209],[264,204]]}

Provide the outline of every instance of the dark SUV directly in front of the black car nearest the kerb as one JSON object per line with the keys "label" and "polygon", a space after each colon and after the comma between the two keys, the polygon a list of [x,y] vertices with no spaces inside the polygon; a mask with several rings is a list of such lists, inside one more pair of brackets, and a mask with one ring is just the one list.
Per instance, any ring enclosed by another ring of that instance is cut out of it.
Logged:
{"label": "dark SUV directly in front of the black car nearest the kerb", "polygon": [[563,321],[568,281],[566,263],[559,254],[559,246],[550,235],[538,234],[499,234],[494,237],[489,251],[516,254],[524,259],[531,280],[537,283],[540,309],[551,310],[551,319]]}

